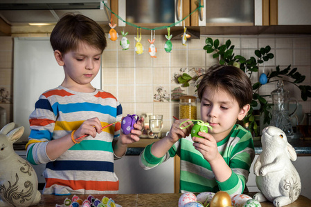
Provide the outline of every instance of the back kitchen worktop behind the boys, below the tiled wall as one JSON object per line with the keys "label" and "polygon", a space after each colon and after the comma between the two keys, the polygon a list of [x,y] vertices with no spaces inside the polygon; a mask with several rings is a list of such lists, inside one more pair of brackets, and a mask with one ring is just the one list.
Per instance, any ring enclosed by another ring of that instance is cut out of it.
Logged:
{"label": "back kitchen worktop behind the boys, below the tiled wall", "polygon": [[[141,138],[138,142],[128,145],[126,155],[140,155],[145,146],[159,140]],[[311,139],[288,139],[288,142],[295,148],[298,156],[311,155]],[[259,155],[263,151],[260,140],[254,141],[254,146],[256,155]]]}

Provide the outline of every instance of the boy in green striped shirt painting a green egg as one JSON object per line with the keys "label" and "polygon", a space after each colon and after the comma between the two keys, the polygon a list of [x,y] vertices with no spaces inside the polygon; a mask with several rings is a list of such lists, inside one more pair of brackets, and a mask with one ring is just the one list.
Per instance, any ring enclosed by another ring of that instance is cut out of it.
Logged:
{"label": "boy in green striped shirt painting a green egg", "polygon": [[141,152],[141,167],[148,170],[178,155],[181,193],[243,193],[255,152],[251,132],[236,121],[249,111],[251,81],[240,68],[213,66],[202,76],[197,91],[201,119],[212,129],[198,133],[203,139],[191,138],[192,121],[176,120],[168,136]]}

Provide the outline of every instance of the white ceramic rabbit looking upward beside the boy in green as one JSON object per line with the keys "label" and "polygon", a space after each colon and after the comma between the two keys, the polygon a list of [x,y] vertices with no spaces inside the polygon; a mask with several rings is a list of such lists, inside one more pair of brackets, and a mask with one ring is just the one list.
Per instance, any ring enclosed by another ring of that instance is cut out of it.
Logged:
{"label": "white ceramic rabbit looking upward beside the boy in green", "polygon": [[288,144],[283,130],[274,126],[263,129],[261,143],[263,152],[254,164],[260,193],[256,193],[254,199],[269,200],[274,206],[292,204],[301,193],[301,180],[292,164],[297,159],[294,148]]}

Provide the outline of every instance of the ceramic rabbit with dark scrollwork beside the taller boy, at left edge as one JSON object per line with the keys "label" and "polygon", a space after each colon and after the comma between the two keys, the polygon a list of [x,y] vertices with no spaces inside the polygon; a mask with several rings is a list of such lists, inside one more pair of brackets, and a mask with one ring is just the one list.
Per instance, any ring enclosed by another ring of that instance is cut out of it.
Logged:
{"label": "ceramic rabbit with dark scrollwork beside the taller boy, at left edge", "polygon": [[[14,123],[0,131],[0,206],[32,206],[39,203],[41,193],[33,166],[19,157],[13,143],[24,133],[24,127]],[[13,130],[14,129],[14,130]]]}

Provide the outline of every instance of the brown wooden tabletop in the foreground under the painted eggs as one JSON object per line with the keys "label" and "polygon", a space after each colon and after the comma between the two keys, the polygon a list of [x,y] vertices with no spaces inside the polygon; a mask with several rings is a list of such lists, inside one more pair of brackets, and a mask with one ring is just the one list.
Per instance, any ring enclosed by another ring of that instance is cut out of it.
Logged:
{"label": "brown wooden tabletop in the foreground under the painted eggs", "polygon": [[[248,193],[251,197],[255,193]],[[88,195],[78,195],[80,199],[87,199]],[[163,194],[115,194],[115,195],[93,195],[94,198],[102,199],[104,196],[112,198],[116,204],[123,207],[127,206],[178,206],[178,200],[181,193],[163,193]],[[66,198],[71,199],[73,195],[57,196],[42,195],[42,199],[37,206],[55,207],[55,204],[63,204]],[[305,207],[310,206],[311,200],[307,197],[300,196],[294,203],[287,205],[288,207]],[[274,206],[271,202],[262,202],[261,206]]]}

